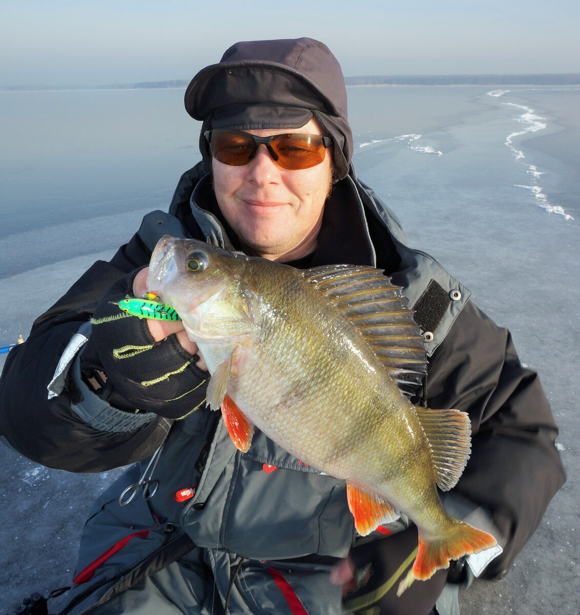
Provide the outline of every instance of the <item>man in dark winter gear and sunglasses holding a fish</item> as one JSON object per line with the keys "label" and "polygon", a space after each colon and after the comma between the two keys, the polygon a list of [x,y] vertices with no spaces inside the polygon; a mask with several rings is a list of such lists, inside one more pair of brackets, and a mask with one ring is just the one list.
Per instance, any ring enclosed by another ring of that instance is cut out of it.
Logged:
{"label": "man in dark winter gear and sunglasses holding a fish", "polygon": [[[450,613],[457,585],[446,582],[503,576],[563,483],[537,376],[357,180],[344,79],[322,43],[238,43],[194,77],[185,104],[203,121],[204,161],[183,175],[169,213],[145,216],[109,263],[39,317],[2,379],[2,434],[26,456],[76,472],[138,462],[95,504],[66,612],[340,613],[344,593],[357,613],[424,615],[435,603]],[[417,542],[405,517],[361,540],[344,482],[260,432],[237,451],[205,408],[208,374],[180,323],[114,306],[145,292],[143,268],[163,234],[297,268],[391,275],[426,339],[429,380],[414,402],[471,416],[472,457],[445,506],[492,531],[503,551],[455,562],[397,597]]]}

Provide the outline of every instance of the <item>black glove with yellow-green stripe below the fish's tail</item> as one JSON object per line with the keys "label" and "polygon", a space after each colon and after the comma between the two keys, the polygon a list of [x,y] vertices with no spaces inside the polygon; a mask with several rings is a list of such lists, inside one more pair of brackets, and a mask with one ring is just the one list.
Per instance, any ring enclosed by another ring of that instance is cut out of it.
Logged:
{"label": "black glove with yellow-green stripe below the fish's tail", "polygon": [[417,545],[417,528],[413,525],[408,530],[353,547],[350,557],[357,571],[364,574],[369,569],[370,577],[356,592],[343,598],[345,611],[384,615],[431,613],[443,591],[447,570],[438,570],[427,581],[413,581],[397,596],[399,583],[405,579],[415,561],[413,551]]}

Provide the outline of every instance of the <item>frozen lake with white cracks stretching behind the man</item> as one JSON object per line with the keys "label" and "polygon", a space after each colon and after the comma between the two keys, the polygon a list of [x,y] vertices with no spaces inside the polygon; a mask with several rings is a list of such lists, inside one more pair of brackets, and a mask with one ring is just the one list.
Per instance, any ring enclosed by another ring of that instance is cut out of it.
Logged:
{"label": "frozen lake with white cracks stretching behind the man", "polygon": [[[580,87],[491,90],[349,87],[354,165],[410,244],[510,328],[560,426],[568,483],[507,577],[460,594],[462,613],[577,614]],[[26,338],[144,213],[167,208],[199,159],[199,124],[182,98],[181,89],[0,92],[0,346]],[[70,582],[84,518],[116,472],[58,472],[4,447],[0,458],[4,612]]]}

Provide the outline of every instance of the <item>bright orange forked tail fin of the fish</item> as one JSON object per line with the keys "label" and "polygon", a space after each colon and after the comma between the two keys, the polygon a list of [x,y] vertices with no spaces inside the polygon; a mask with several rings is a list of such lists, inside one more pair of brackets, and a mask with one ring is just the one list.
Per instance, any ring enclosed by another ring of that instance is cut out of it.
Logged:
{"label": "bright orange forked tail fin of the fish", "polygon": [[419,551],[413,564],[413,576],[420,581],[431,578],[435,571],[447,568],[451,560],[463,555],[479,553],[496,545],[496,539],[481,530],[476,530],[463,521],[453,519],[445,539],[424,542],[419,533]]}

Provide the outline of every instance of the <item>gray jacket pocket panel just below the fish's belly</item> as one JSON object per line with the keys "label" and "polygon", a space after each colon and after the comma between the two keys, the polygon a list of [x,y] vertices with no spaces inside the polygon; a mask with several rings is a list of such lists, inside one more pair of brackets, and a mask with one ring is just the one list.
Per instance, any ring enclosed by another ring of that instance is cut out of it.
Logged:
{"label": "gray jacket pocket panel just below the fish's belly", "polygon": [[259,560],[347,554],[354,525],[344,481],[294,462],[237,456],[223,517],[228,550]]}

